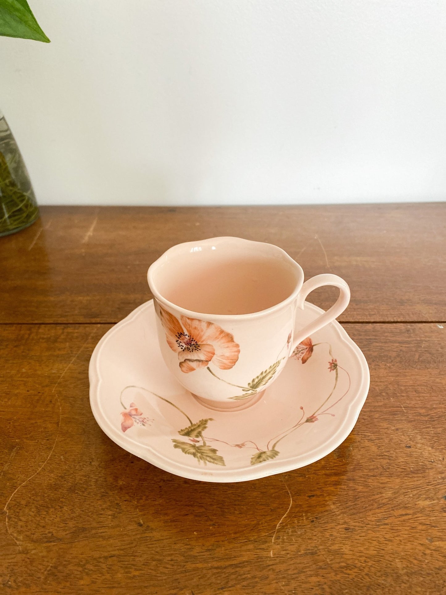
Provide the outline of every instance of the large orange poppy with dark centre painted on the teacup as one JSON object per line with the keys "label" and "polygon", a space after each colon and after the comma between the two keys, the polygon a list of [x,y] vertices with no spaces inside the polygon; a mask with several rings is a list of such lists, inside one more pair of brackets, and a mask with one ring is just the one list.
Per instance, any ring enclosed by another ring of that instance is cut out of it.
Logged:
{"label": "large orange poppy with dark centre painted on the teacup", "polygon": [[238,360],[240,346],[218,324],[182,316],[180,320],[159,306],[159,318],[168,346],[178,354],[180,369],[188,374],[206,368],[212,361],[222,370],[231,369]]}

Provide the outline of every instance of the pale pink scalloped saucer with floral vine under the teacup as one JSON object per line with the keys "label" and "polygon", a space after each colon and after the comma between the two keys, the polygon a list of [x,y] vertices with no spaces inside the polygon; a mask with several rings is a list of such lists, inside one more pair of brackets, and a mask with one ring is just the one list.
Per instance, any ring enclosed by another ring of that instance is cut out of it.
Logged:
{"label": "pale pink scalloped saucer with floral vine under the teacup", "polygon": [[[306,302],[302,325],[322,312]],[[250,408],[213,411],[164,364],[153,300],[100,339],[89,377],[93,415],[115,443],[175,475],[221,483],[298,469],[328,455],[353,430],[369,390],[365,356],[334,321],[300,343]]]}

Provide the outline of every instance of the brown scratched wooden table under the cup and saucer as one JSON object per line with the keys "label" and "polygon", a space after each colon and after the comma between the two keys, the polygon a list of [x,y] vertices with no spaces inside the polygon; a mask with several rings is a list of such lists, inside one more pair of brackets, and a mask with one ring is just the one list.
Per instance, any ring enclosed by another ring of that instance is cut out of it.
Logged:
{"label": "brown scratched wooden table under the cup and saucer", "polygon": [[[41,210],[0,239],[2,593],[446,593],[445,203]],[[337,450],[241,484],[129,455],[88,400],[92,350],[151,297],[149,264],[218,235],[346,278],[371,375]]]}

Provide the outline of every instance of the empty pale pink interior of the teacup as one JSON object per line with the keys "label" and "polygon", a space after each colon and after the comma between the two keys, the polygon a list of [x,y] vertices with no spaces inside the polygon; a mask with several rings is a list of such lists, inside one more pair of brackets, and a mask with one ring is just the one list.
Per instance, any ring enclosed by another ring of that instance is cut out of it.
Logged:
{"label": "empty pale pink interior of the teacup", "polygon": [[159,293],[181,308],[203,314],[251,314],[293,293],[299,282],[296,267],[286,253],[268,244],[197,242],[170,255],[154,281]]}

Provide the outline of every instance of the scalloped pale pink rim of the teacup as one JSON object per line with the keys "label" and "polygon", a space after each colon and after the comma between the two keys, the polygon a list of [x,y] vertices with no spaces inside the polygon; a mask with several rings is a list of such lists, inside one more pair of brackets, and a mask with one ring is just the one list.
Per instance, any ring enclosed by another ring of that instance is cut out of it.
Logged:
{"label": "scalloped pale pink rim of the teacup", "polygon": [[[187,308],[183,308],[183,306],[179,306],[174,302],[170,302],[168,299],[166,299],[164,296],[161,295],[161,293],[159,293],[158,289],[156,289],[156,285],[154,283],[153,280],[153,273],[156,270],[157,265],[160,264],[160,261],[162,261],[162,259],[168,257],[169,254],[172,254],[174,252],[179,252],[181,249],[184,249],[185,246],[193,246],[193,245],[197,245],[197,244],[210,244],[210,243],[221,243],[222,241],[227,241],[227,240],[237,240],[239,242],[246,242],[246,243],[250,243],[250,244],[261,244],[262,246],[270,246],[271,248],[274,248],[275,250],[277,250],[279,253],[281,253],[282,255],[285,256],[285,258],[287,259],[288,262],[290,262],[290,264],[293,265],[293,267],[296,269],[297,273],[299,273],[299,280],[296,283],[296,287],[294,288],[293,292],[286,297],[284,300],[282,300],[281,302],[278,302],[277,304],[275,304],[274,306],[271,306],[270,308],[266,308],[263,310],[259,310],[257,312],[249,312],[248,314],[206,314],[205,312],[196,312],[193,310],[189,310]],[[294,300],[297,299],[297,296],[299,295],[299,292],[302,288],[303,285],[303,281],[304,281],[304,272],[302,267],[300,266],[300,264],[298,262],[296,262],[294,260],[294,258],[291,258],[291,256],[288,254],[288,252],[285,252],[284,249],[280,248],[279,246],[276,246],[275,244],[271,244],[269,242],[259,242],[257,240],[247,240],[246,238],[243,237],[237,237],[237,236],[218,236],[218,237],[209,237],[203,240],[193,240],[191,242],[181,242],[180,244],[176,244],[175,246],[171,246],[171,248],[168,248],[167,250],[165,250],[165,252],[162,253],[161,256],[159,256],[159,258],[156,259],[156,261],[152,262],[152,264],[149,267],[149,270],[147,270],[147,282],[149,283],[149,288],[150,291],[153,294],[153,297],[156,299],[156,301],[158,301],[159,303],[162,303],[162,305],[167,306],[168,308],[171,308],[174,311],[179,312],[181,315],[183,316],[187,316],[189,318],[199,318],[199,319],[209,319],[212,318],[212,320],[225,320],[225,321],[229,321],[229,320],[248,320],[249,318],[261,318],[264,316],[267,316],[269,314],[272,314],[272,312],[278,311],[282,308],[285,308],[286,306],[290,305]]]}

